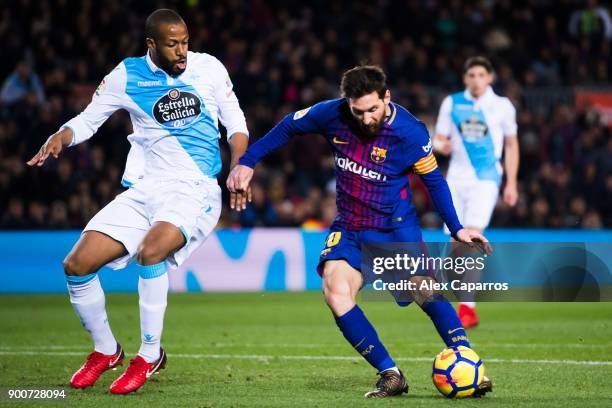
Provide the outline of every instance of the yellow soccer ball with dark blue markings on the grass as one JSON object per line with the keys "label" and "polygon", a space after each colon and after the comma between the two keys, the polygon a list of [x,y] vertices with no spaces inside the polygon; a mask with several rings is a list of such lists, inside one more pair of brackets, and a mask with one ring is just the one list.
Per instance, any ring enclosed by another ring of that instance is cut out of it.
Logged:
{"label": "yellow soccer ball with dark blue markings on the grass", "polygon": [[465,398],[474,394],[484,378],[484,365],[478,354],[465,346],[449,347],[436,356],[433,382],[448,398]]}

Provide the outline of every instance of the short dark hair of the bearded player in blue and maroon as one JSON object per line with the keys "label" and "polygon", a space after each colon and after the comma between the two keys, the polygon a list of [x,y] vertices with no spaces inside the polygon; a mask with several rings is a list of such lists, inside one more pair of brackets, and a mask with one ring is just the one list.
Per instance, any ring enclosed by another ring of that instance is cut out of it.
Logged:
{"label": "short dark hair of the bearded player in blue and maroon", "polygon": [[360,65],[342,74],[340,92],[345,98],[356,99],[372,92],[381,98],[387,92],[387,76],[377,65]]}

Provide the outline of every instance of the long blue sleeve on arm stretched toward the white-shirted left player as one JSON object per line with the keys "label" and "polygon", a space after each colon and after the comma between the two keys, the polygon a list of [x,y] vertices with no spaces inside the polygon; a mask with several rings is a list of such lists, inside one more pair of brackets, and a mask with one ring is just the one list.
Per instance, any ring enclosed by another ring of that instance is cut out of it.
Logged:
{"label": "long blue sleeve on arm stretched toward the white-shirted left player", "polygon": [[248,167],[255,167],[259,160],[286,144],[293,136],[306,133],[323,133],[321,120],[330,108],[328,101],[325,101],[288,114],[264,137],[251,145],[242,155],[239,163]]}

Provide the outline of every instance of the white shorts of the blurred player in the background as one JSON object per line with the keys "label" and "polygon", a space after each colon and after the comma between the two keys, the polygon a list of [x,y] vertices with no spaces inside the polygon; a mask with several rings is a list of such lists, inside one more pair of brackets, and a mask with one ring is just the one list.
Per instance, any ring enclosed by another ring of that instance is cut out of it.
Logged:
{"label": "white shorts of the blurred player in the background", "polygon": [[[466,228],[484,230],[491,221],[499,197],[499,186],[493,180],[455,182],[448,180],[459,222]],[[444,226],[448,234],[448,228]]]}

